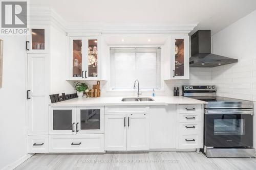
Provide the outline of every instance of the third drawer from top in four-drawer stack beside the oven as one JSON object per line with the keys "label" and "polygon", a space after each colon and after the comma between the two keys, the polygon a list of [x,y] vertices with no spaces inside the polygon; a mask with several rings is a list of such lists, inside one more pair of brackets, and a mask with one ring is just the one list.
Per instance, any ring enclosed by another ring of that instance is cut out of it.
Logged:
{"label": "third drawer from top in four-drawer stack beside the oven", "polygon": [[179,133],[182,135],[185,134],[200,134],[202,126],[200,122],[197,123],[180,123]]}

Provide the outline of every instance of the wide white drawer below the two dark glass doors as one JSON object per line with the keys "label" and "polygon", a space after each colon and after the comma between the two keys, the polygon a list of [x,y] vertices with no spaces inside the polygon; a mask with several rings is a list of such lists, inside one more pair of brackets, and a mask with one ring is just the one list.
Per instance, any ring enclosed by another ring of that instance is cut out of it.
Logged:
{"label": "wide white drawer below the two dark glass doors", "polygon": [[49,152],[104,152],[104,134],[49,135]]}

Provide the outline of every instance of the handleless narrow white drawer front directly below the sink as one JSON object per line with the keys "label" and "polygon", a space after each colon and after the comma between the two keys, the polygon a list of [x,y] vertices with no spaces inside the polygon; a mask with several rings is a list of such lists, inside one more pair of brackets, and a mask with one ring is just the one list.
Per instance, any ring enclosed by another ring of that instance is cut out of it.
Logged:
{"label": "handleless narrow white drawer front directly below the sink", "polygon": [[104,114],[147,114],[148,110],[145,106],[111,106],[105,107]]}

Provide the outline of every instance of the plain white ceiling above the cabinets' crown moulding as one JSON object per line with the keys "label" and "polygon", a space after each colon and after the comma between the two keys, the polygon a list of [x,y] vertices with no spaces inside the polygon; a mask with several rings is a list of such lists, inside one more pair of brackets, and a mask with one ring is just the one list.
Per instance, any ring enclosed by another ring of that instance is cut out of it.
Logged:
{"label": "plain white ceiling above the cabinets' crown moulding", "polygon": [[187,23],[219,32],[256,10],[255,0],[31,0],[50,5],[69,22]]}

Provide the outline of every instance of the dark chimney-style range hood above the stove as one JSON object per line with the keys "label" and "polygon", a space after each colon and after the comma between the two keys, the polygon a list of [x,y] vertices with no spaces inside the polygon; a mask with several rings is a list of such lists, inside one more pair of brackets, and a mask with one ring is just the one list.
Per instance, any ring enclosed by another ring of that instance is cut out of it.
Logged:
{"label": "dark chimney-style range hood above the stove", "polygon": [[238,59],[211,53],[210,30],[198,30],[195,34],[191,35],[189,67],[216,67],[237,62]]}

